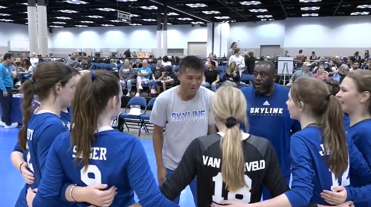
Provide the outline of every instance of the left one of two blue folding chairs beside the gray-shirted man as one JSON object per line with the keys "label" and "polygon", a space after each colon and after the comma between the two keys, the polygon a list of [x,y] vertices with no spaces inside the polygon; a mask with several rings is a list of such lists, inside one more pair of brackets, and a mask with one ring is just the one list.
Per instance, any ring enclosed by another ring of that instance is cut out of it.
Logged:
{"label": "left one of two blue folding chairs beside the gray-shirted man", "polygon": [[[121,113],[119,115],[119,119],[124,122],[124,125],[127,128],[127,131],[129,129],[138,129],[138,136],[140,135],[141,126],[142,126],[142,119],[141,115],[131,115],[128,114],[128,109],[130,110],[131,105],[139,105],[141,110],[145,110],[147,107],[147,101],[144,97],[132,97],[129,102],[126,104],[126,108],[124,113]],[[132,126],[138,126],[138,128],[134,128]],[[124,127],[122,127],[122,130],[124,130]]]}

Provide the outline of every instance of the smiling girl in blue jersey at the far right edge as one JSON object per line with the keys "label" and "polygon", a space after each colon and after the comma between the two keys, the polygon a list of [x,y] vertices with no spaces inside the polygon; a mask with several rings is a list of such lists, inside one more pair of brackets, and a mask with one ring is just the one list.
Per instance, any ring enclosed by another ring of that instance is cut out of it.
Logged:
{"label": "smiling girl in blue jersey at the far right edge", "polygon": [[[350,121],[345,125],[346,134],[353,139],[354,144],[371,166],[371,71],[350,71],[341,82],[340,91],[336,96],[341,102],[343,111],[349,116]],[[350,173],[350,185],[352,187],[362,187],[368,184],[370,183],[357,173]],[[361,201],[364,199],[368,200],[369,203],[362,203]],[[371,207],[370,196],[364,199],[354,200],[355,202],[361,202],[355,203],[355,206]]]}

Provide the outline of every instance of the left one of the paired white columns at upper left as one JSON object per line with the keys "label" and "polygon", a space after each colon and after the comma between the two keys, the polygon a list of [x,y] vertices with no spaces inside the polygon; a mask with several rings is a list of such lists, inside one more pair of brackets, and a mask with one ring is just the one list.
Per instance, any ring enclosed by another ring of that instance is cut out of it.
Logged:
{"label": "left one of the paired white columns at upper left", "polygon": [[30,53],[39,53],[38,40],[38,15],[36,9],[36,0],[27,2],[28,36],[30,42]]}

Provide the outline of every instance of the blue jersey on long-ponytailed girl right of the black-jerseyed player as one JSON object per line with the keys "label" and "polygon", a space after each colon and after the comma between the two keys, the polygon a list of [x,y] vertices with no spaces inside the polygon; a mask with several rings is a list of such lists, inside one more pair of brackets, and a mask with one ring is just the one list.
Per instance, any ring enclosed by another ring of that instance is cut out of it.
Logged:
{"label": "blue jersey on long-ponytailed girl right of the black-jerseyed player", "polygon": [[362,154],[347,137],[349,163],[347,170],[335,177],[327,165],[322,141],[322,130],[318,126],[308,126],[291,137],[290,152],[292,157],[291,191],[286,192],[292,207],[302,207],[310,203],[327,205],[321,198],[323,190],[350,184],[349,172],[357,172],[365,181],[371,180],[370,167]]}

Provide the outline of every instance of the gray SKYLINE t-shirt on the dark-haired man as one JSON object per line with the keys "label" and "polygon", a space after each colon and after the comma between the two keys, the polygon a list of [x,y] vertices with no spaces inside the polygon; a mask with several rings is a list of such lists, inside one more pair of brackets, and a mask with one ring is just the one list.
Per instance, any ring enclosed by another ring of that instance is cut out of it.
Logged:
{"label": "gray SKYLINE t-shirt on the dark-haired man", "polygon": [[214,92],[201,86],[195,98],[182,101],[179,86],[170,88],[157,97],[150,123],[165,127],[163,160],[165,168],[175,170],[193,139],[206,136],[214,124],[211,100]]}

